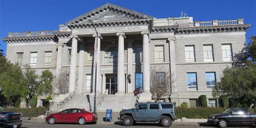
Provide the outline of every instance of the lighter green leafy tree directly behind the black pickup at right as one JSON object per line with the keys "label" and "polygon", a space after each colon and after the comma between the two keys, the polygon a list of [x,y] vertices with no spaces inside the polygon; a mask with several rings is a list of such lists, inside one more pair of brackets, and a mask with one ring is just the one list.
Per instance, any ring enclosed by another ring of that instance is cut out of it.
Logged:
{"label": "lighter green leafy tree directly behind the black pickup at right", "polygon": [[[234,106],[247,106],[241,104],[244,99],[256,100],[256,64],[247,63],[243,68],[227,68],[224,76],[215,85],[213,96],[226,95],[232,100]],[[255,102],[254,102],[255,106]]]}

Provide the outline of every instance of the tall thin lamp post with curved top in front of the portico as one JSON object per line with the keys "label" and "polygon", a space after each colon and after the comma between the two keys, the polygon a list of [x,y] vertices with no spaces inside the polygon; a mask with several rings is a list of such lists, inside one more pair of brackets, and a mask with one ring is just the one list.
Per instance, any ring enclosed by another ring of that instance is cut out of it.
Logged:
{"label": "tall thin lamp post with curved top in front of the portico", "polygon": [[94,23],[92,22],[91,19],[88,19],[89,22],[92,23],[92,26],[95,28],[95,31],[96,31],[96,42],[95,42],[95,46],[94,46],[94,58],[93,58],[93,77],[92,77],[92,86],[94,86],[94,97],[93,97],[93,113],[96,113],[96,82],[97,82],[97,76],[96,76],[96,71],[97,71],[97,62],[96,62],[96,59],[97,59],[97,46],[98,46],[98,32],[97,32],[97,29],[94,25]]}

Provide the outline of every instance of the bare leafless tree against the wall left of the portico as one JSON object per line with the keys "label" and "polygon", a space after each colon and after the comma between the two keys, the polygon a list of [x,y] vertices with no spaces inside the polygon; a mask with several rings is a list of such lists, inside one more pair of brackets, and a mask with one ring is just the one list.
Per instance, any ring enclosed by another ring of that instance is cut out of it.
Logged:
{"label": "bare leafless tree against the wall left of the portico", "polygon": [[69,71],[60,70],[59,74],[53,80],[53,89],[56,94],[66,94],[69,92]]}

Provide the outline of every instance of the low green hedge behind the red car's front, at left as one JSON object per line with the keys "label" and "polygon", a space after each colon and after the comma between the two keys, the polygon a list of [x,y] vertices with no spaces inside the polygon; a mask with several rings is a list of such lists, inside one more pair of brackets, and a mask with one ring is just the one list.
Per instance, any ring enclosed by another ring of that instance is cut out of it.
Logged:
{"label": "low green hedge behind the red car's front, at left", "polygon": [[32,107],[32,108],[4,108],[6,111],[22,112],[23,117],[38,117],[45,114],[45,107]]}

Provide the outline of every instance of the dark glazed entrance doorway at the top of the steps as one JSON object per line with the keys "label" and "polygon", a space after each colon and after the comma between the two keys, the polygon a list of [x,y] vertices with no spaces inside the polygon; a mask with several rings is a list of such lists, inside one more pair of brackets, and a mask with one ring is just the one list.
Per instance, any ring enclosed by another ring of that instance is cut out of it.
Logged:
{"label": "dark glazed entrance doorway at the top of the steps", "polygon": [[108,95],[117,93],[117,74],[106,74],[106,92]]}

